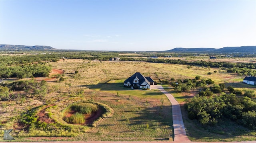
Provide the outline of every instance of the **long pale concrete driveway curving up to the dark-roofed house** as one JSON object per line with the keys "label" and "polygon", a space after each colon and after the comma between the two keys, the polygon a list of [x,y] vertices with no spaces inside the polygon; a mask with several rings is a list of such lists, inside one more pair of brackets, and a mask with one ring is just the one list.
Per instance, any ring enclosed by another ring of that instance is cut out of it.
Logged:
{"label": "long pale concrete driveway curving up to the dark-roofed house", "polygon": [[186,135],[182,114],[180,110],[180,104],[177,102],[177,100],[172,96],[172,94],[164,90],[164,88],[162,88],[161,85],[150,86],[150,88],[158,89],[161,92],[163,92],[172,103],[172,122],[173,122],[173,129],[174,129],[174,141],[183,142],[183,143],[191,142]]}

